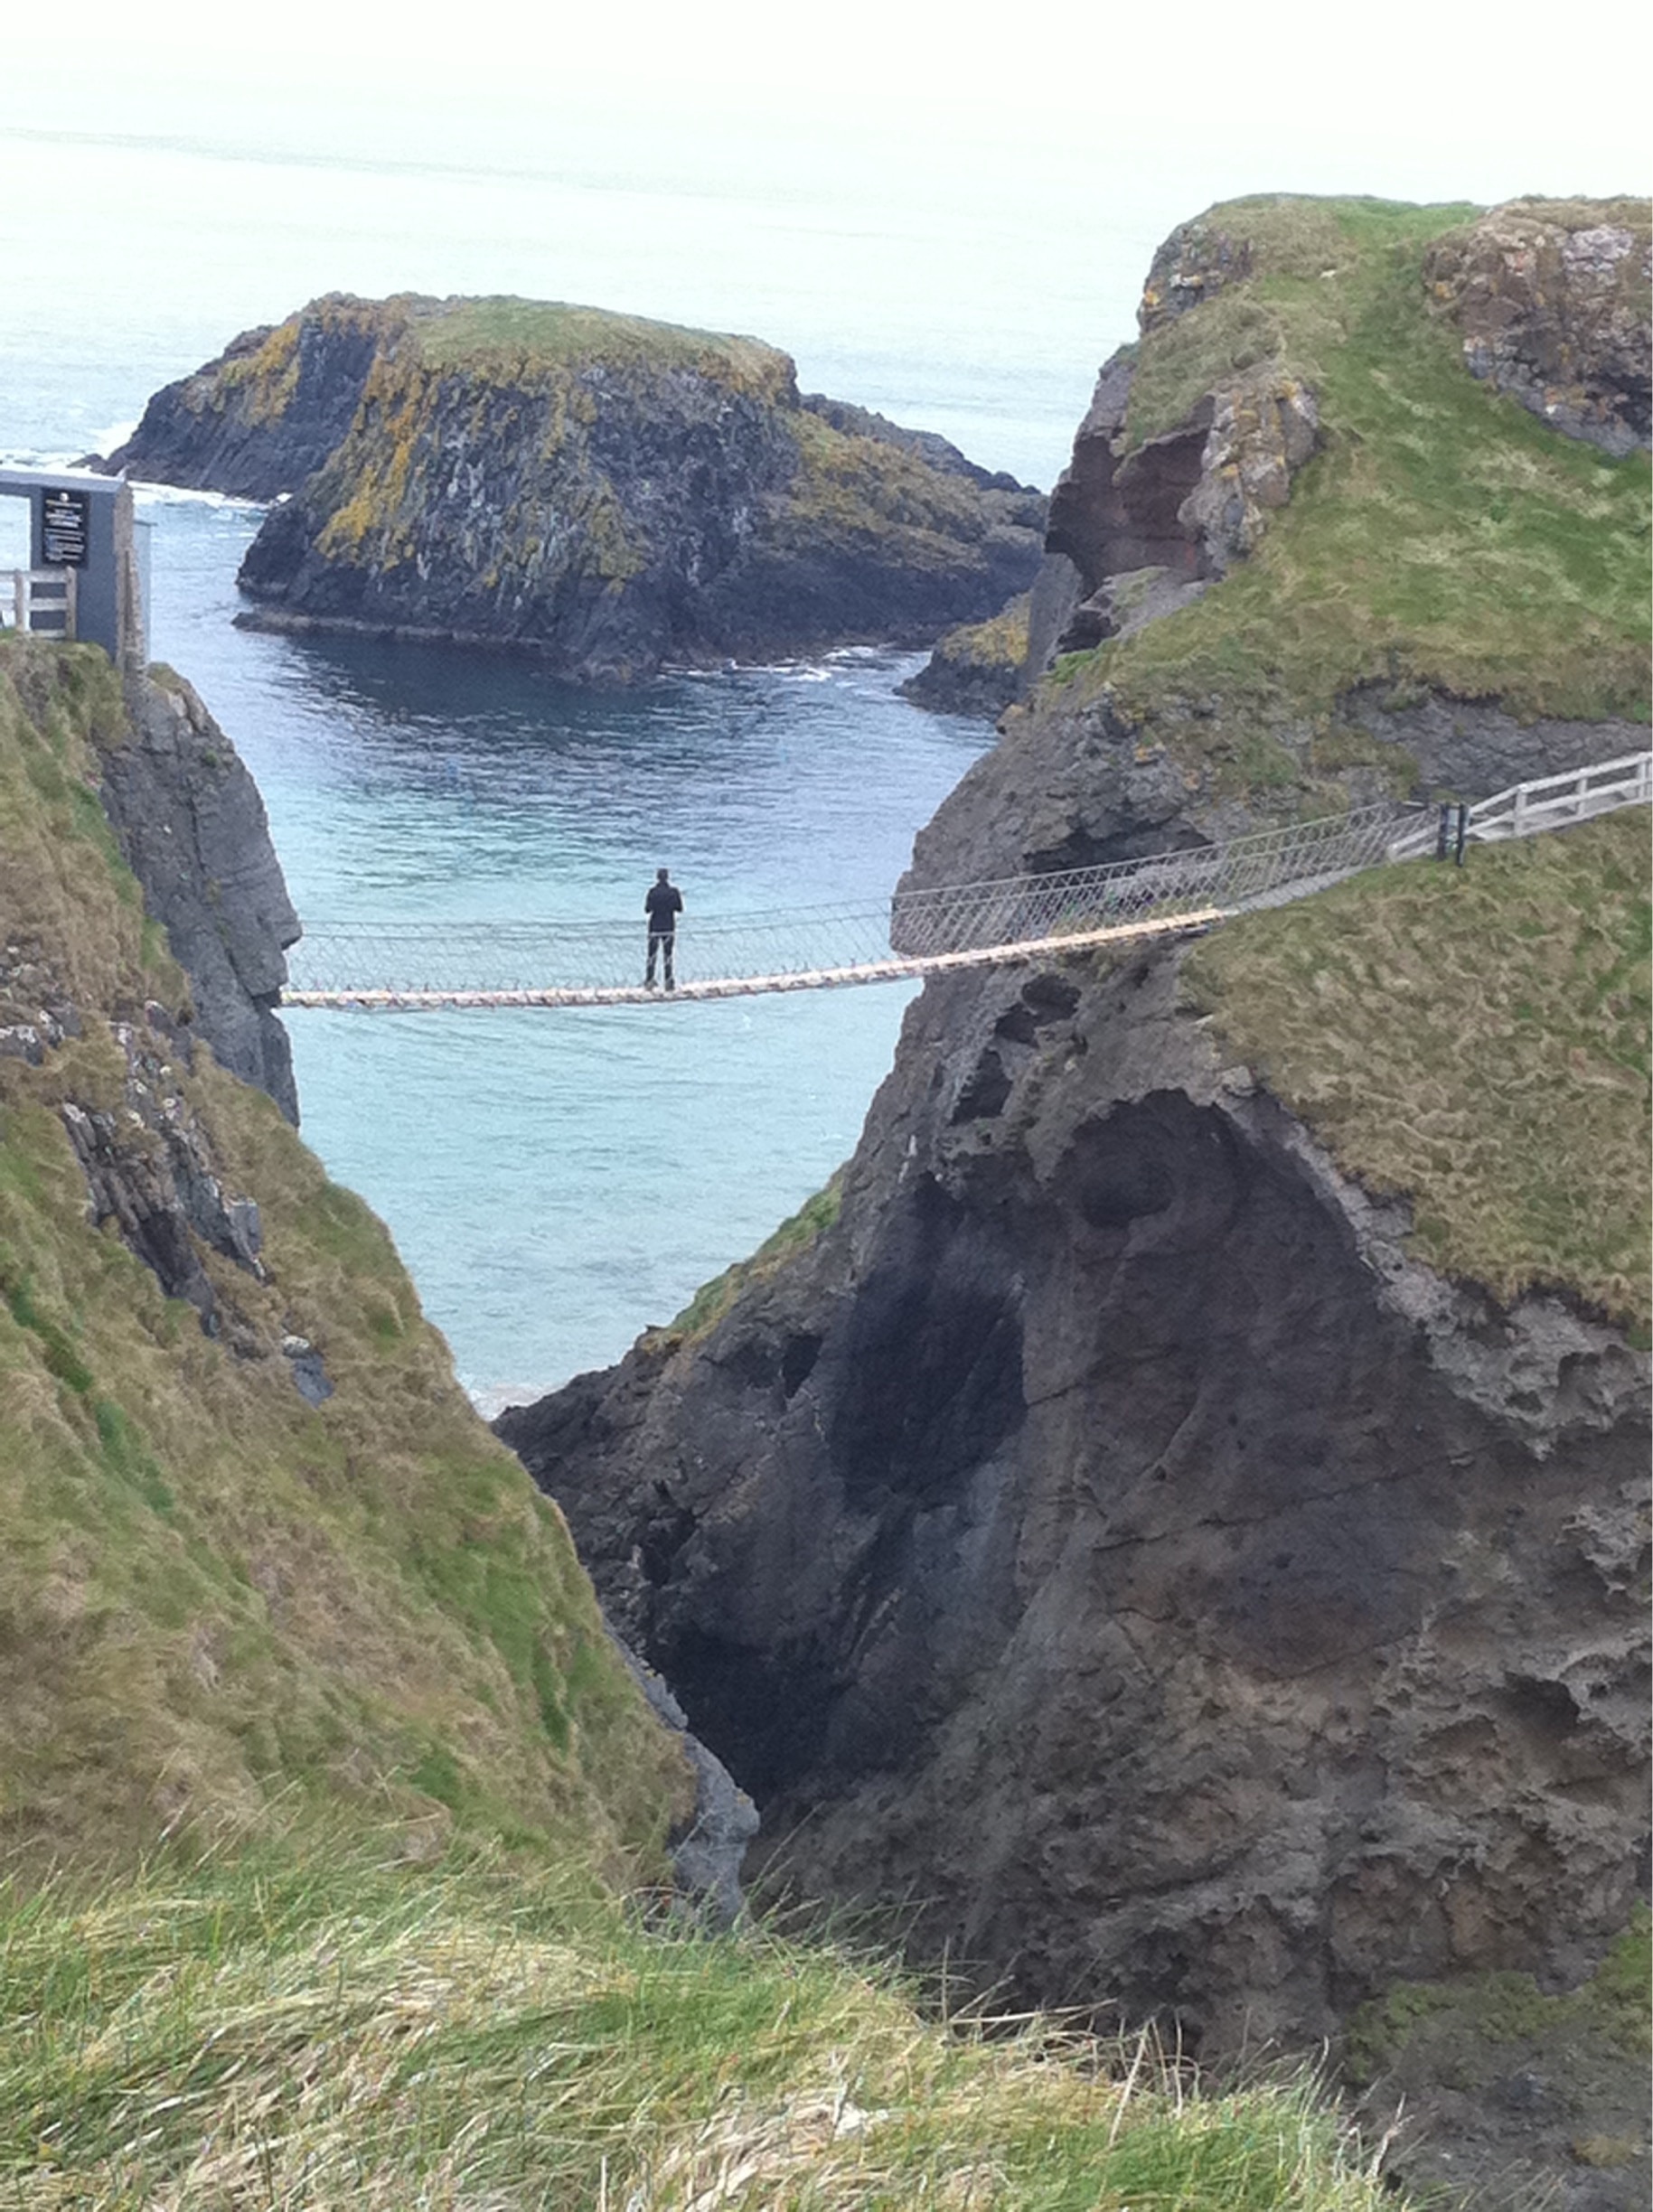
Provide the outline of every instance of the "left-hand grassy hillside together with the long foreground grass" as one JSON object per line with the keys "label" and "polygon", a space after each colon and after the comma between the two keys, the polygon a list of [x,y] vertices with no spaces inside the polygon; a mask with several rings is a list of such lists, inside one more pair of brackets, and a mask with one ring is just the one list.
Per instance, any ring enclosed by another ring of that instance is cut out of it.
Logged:
{"label": "left-hand grassy hillside together with the long foreground grass", "polygon": [[179,1091],[263,1210],[268,1283],[217,1270],[243,1354],[86,1221],[55,1106],[119,1110],[104,1015],[184,1000],[93,737],[100,655],[0,648],[0,945],[84,1031],[0,1060],[0,2199],[1394,2203],[1301,2079],[925,2026],[883,1971],[648,1933],[593,1880],[657,1863],[675,1761],[383,1228],[206,1055]]}

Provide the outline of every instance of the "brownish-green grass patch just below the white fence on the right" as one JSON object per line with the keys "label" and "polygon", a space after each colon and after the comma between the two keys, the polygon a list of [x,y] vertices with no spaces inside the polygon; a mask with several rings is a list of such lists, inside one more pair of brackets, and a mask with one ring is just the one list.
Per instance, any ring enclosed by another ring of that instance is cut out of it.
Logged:
{"label": "brownish-green grass patch just below the white fence on the right", "polygon": [[1423,1261],[1646,1340],[1651,927],[1629,807],[1244,916],[1184,989],[1345,1172],[1410,1197]]}

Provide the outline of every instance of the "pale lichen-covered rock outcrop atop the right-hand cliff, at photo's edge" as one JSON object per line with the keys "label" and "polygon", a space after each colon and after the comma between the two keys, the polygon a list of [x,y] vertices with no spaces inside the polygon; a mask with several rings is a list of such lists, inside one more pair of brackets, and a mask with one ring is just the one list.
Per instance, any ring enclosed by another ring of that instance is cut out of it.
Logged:
{"label": "pale lichen-covered rock outcrop atop the right-hand cliff, at photo's edge", "polygon": [[1511,201],[1432,246],[1425,279],[1472,376],[1607,453],[1649,442],[1646,201]]}

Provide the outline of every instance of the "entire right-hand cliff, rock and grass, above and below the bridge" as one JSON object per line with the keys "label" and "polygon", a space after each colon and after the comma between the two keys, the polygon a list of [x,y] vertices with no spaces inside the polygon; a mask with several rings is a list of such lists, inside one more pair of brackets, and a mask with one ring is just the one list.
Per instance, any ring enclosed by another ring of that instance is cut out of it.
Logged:
{"label": "entire right-hand cliff, rock and grass, above and below the bridge", "polygon": [[[1646,239],[1184,226],[912,880],[1644,750]],[[1646,1887],[1646,911],[1633,810],[932,982],[814,1241],[498,1425],[777,1882],[1334,2037],[1485,2205],[1646,2188],[1589,1995]]]}

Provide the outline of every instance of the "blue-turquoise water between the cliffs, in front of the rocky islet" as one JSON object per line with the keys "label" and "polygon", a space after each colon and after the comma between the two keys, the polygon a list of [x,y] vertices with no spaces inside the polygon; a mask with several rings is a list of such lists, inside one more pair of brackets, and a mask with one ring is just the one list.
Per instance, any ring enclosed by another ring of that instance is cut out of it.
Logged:
{"label": "blue-turquoise water between the cliffs, in front of the rocky islet", "polygon": [[[529,661],[235,630],[257,509],[142,498],[155,655],[259,779],[301,916],[637,918],[883,898],[989,732],[887,653],[591,692]],[[485,1405],[617,1358],[854,1148],[905,987],[575,1013],[290,1013],[303,1128]]]}

